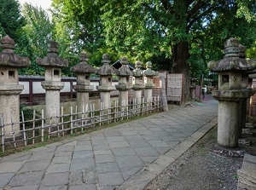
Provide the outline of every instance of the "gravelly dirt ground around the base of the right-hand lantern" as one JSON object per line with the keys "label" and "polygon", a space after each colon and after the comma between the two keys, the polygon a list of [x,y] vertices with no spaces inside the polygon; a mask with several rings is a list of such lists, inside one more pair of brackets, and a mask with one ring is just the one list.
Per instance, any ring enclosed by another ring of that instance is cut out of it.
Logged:
{"label": "gravelly dirt ground around the base of the right-hand lantern", "polygon": [[[241,151],[256,155],[256,130],[248,137],[250,146]],[[205,190],[237,189],[237,170],[242,158],[230,158],[213,153],[217,141],[217,126],[196,142],[186,153],[151,181],[144,190]]]}

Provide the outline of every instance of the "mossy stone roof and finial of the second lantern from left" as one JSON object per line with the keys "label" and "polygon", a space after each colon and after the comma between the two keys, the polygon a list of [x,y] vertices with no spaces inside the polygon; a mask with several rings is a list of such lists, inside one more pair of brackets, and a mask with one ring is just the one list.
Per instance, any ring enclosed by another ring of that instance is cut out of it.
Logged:
{"label": "mossy stone roof and finial of the second lantern from left", "polygon": [[45,67],[67,67],[68,61],[61,59],[61,57],[58,56],[58,43],[55,41],[49,41],[48,44],[48,55],[44,57],[43,59],[37,58],[37,63],[39,66],[45,66]]}

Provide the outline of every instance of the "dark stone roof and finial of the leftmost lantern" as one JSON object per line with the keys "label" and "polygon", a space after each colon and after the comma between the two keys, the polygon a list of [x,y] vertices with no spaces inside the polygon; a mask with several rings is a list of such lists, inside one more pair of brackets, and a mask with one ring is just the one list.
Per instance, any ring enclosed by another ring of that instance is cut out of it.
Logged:
{"label": "dark stone roof and finial of the leftmost lantern", "polygon": [[0,48],[3,49],[3,52],[0,53],[0,66],[18,68],[31,65],[31,61],[28,58],[15,54],[15,41],[12,38],[5,36],[1,39],[1,43]]}

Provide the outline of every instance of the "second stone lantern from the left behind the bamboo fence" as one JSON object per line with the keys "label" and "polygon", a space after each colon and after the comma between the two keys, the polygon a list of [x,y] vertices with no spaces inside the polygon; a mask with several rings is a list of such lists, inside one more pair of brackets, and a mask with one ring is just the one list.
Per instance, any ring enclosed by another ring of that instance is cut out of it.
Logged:
{"label": "second stone lantern from the left behind the bamboo fence", "polygon": [[[39,66],[45,67],[44,81],[41,83],[45,89],[45,116],[47,118],[59,116],[60,112],[60,90],[64,88],[61,82],[61,68],[68,66],[68,61],[58,56],[58,43],[49,42],[49,55],[44,59],[37,58]],[[57,123],[57,119],[52,120],[52,124]]]}

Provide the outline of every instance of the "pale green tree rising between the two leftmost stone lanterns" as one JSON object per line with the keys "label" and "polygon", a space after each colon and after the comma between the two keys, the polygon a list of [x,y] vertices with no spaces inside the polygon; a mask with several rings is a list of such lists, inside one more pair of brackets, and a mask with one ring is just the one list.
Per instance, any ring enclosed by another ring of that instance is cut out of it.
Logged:
{"label": "pale green tree rising between the two leftmost stone lanterns", "polygon": [[19,32],[19,46],[16,52],[32,60],[32,66],[21,69],[20,74],[43,75],[44,68],[38,66],[36,59],[48,54],[47,44],[54,37],[55,24],[51,22],[49,14],[44,9],[28,3],[23,5],[22,14],[26,26]]}

